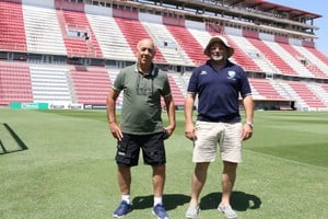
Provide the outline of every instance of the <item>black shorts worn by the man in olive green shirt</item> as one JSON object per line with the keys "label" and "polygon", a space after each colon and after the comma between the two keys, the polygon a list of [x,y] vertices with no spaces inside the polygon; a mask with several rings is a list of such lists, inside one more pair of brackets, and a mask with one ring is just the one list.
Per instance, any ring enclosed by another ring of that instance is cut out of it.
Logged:
{"label": "black shorts worn by the man in olive green shirt", "polygon": [[121,141],[117,142],[116,162],[127,166],[138,165],[140,148],[143,162],[148,165],[165,164],[166,155],[164,140],[166,132],[152,135],[122,134]]}

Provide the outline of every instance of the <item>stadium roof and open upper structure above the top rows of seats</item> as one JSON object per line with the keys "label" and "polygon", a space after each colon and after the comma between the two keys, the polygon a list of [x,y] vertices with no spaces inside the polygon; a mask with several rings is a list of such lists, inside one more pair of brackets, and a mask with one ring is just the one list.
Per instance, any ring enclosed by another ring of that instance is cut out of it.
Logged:
{"label": "stadium roof and open upper structure above the top rows of seats", "polygon": [[[184,16],[191,21],[225,22],[249,28],[317,38],[314,20],[323,15],[265,0],[102,0],[108,3]],[[117,7],[117,5],[116,5]],[[120,8],[120,7],[119,7]]]}

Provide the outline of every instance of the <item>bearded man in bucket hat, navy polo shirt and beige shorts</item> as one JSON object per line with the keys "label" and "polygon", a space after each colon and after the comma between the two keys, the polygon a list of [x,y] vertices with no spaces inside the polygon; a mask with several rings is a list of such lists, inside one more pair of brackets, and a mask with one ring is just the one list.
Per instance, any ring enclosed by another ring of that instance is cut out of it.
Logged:
{"label": "bearded man in bucket hat, navy polo shirt and beige shorts", "polygon": [[[199,196],[207,180],[207,171],[215,161],[220,146],[223,171],[221,175],[222,199],[218,206],[226,218],[237,218],[230,205],[236,178],[236,169],[242,162],[242,143],[253,135],[254,103],[250,85],[243,68],[229,58],[233,55],[223,36],[213,36],[204,54],[210,58],[190,77],[185,100],[185,135],[194,141],[191,198],[186,218],[197,218]],[[198,114],[194,125],[192,110],[198,96]],[[239,114],[239,96],[245,108],[245,124]]]}

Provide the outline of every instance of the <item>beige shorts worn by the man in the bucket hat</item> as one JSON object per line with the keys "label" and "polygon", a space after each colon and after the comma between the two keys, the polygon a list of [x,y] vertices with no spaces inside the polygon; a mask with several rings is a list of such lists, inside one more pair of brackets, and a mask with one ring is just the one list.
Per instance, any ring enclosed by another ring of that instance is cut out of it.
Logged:
{"label": "beige shorts worn by the man in the bucket hat", "polygon": [[242,162],[242,123],[196,122],[192,162],[213,162],[220,148],[221,160]]}

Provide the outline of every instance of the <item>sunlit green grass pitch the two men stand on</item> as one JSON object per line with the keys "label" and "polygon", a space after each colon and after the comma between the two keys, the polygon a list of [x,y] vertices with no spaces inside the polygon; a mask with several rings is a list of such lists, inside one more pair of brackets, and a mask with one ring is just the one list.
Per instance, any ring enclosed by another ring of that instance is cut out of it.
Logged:
{"label": "sunlit green grass pitch the two men stand on", "polygon": [[[120,194],[116,141],[105,111],[0,108],[0,119],[1,219],[112,218]],[[5,125],[27,150],[21,150]],[[194,170],[183,112],[177,112],[177,128],[166,150],[164,204],[171,219],[183,219]],[[256,112],[243,161],[232,196],[239,218],[328,218],[328,113]],[[223,218],[215,210],[221,168],[218,158],[209,169],[200,219]],[[151,169],[141,161],[132,169],[131,195],[133,211],[125,218],[154,218]]]}

